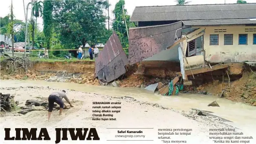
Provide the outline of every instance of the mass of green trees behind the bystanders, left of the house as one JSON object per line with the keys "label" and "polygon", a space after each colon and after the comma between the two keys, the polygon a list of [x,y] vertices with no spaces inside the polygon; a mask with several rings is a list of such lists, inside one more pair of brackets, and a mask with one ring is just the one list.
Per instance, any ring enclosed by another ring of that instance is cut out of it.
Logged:
{"label": "mass of green trees behind the bystanders, left of the house", "polygon": [[[113,21],[108,15],[108,0],[32,0],[29,6],[32,10],[28,12],[27,48],[47,48],[50,59],[63,58],[67,49],[77,49],[81,45],[105,44],[113,31],[117,32],[123,48],[128,48],[127,30],[135,26],[130,22],[124,0],[115,4]],[[11,37],[11,29],[14,30],[14,42],[24,42],[26,24],[11,20],[12,16],[15,18],[15,15],[1,17],[1,33],[6,36],[4,43]],[[39,17],[43,19],[43,29],[38,27]],[[51,51],[57,49],[63,51]],[[69,52],[76,55],[74,50]]]}

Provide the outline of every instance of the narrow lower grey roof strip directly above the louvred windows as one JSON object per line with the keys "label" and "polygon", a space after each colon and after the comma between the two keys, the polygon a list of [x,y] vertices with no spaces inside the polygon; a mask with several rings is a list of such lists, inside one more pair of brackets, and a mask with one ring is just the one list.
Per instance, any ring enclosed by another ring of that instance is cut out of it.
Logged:
{"label": "narrow lower grey roof strip directly above the louvred windows", "polygon": [[232,19],[232,20],[186,20],[185,26],[210,26],[210,25],[237,25],[237,24],[256,24],[256,20]]}

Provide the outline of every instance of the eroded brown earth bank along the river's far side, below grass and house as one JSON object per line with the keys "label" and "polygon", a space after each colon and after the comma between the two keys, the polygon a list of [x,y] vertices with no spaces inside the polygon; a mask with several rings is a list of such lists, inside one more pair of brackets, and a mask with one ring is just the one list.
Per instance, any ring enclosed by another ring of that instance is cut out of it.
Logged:
{"label": "eroded brown earth bank along the river's far side, below grass and house", "polygon": [[[169,81],[175,77],[177,71],[175,64],[167,67],[168,63],[160,63],[161,70],[157,67],[158,63],[144,63],[148,68],[144,75],[135,74],[137,68],[130,67],[128,72],[116,80],[119,87],[146,87],[150,84],[161,82],[168,85]],[[170,70],[169,70],[169,69]],[[172,71],[170,73],[169,71]],[[225,70],[207,72],[205,74],[191,76],[192,86],[185,86],[185,93],[198,93],[207,95],[220,95],[227,99],[245,102],[256,106],[256,74],[251,70],[245,70],[243,63],[232,63],[229,68],[229,75]],[[203,78],[203,79],[202,79]],[[20,79],[20,80],[44,80],[68,83],[80,83],[88,85],[100,85],[94,78],[94,61],[77,62],[40,62],[35,63],[33,68],[27,73],[8,74],[1,68],[1,79]]]}

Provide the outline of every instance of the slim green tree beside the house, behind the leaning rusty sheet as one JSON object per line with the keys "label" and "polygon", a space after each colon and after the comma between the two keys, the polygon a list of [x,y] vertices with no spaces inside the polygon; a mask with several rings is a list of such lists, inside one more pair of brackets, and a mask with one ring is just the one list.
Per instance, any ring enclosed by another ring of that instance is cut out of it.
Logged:
{"label": "slim green tree beside the house, behind the leaning rusty sheet", "polygon": [[126,20],[128,30],[130,27],[135,27],[135,23],[130,22],[130,15],[127,14],[126,9],[124,9],[124,12],[123,12],[124,5],[125,5],[124,0],[119,0],[119,2],[115,4],[115,9],[113,10],[113,13],[115,16],[113,20],[113,30],[117,32],[117,35],[121,41],[122,46],[124,48],[128,48],[129,42],[128,42],[128,35],[126,31],[125,20]]}

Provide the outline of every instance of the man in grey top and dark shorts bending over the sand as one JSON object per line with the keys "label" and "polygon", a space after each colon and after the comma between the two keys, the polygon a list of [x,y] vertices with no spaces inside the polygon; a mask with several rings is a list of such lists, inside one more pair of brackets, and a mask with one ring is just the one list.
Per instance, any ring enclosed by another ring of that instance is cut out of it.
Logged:
{"label": "man in grey top and dark shorts bending over the sand", "polygon": [[54,107],[54,103],[57,103],[58,105],[60,105],[60,114],[59,114],[59,116],[62,115],[62,109],[64,108],[64,106],[66,107],[66,105],[62,101],[62,98],[64,98],[69,103],[70,107],[73,107],[70,100],[66,96],[66,91],[65,90],[62,90],[60,92],[51,93],[49,98],[48,98],[48,101],[49,101],[48,121],[50,120],[51,112],[53,111],[53,107]]}

